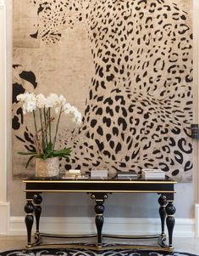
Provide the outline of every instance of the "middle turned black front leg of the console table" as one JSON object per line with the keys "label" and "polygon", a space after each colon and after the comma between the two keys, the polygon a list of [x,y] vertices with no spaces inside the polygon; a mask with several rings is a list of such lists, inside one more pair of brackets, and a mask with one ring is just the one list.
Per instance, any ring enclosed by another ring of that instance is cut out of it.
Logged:
{"label": "middle turned black front leg of the console table", "polygon": [[102,247],[102,226],[103,226],[103,212],[104,212],[104,206],[103,202],[104,199],[107,199],[107,194],[92,194],[92,199],[95,199],[96,206],[95,206],[95,212],[96,212],[96,227],[97,227],[97,247]]}

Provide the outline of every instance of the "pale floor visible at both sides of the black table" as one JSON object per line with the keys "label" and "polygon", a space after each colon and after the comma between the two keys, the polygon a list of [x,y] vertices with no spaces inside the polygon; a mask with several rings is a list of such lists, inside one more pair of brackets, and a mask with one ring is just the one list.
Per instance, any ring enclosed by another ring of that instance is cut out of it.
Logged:
{"label": "pale floor visible at both sides of the black table", "polygon": [[[25,236],[0,236],[0,252],[25,247]],[[176,252],[193,253],[199,255],[199,238],[174,238]]]}

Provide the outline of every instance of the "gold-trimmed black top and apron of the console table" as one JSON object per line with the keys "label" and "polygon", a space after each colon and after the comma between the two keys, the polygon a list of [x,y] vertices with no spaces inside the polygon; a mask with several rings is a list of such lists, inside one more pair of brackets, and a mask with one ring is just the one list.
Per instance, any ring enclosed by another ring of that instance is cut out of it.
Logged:
{"label": "gold-trimmed black top and apron of the console table", "polygon": [[174,200],[174,184],[169,179],[25,179],[26,199],[31,200],[36,192],[86,192],[86,193],[158,193]]}

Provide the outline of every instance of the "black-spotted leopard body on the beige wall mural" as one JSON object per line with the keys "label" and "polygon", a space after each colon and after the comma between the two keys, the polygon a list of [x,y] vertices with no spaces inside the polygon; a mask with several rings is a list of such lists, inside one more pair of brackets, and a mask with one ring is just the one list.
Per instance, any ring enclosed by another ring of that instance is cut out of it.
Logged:
{"label": "black-spotted leopard body on the beige wall mural", "polygon": [[192,34],[185,10],[166,0],[35,4],[32,40],[58,43],[60,27],[83,21],[91,43],[95,73],[65,168],[162,168],[175,179],[190,176]]}

